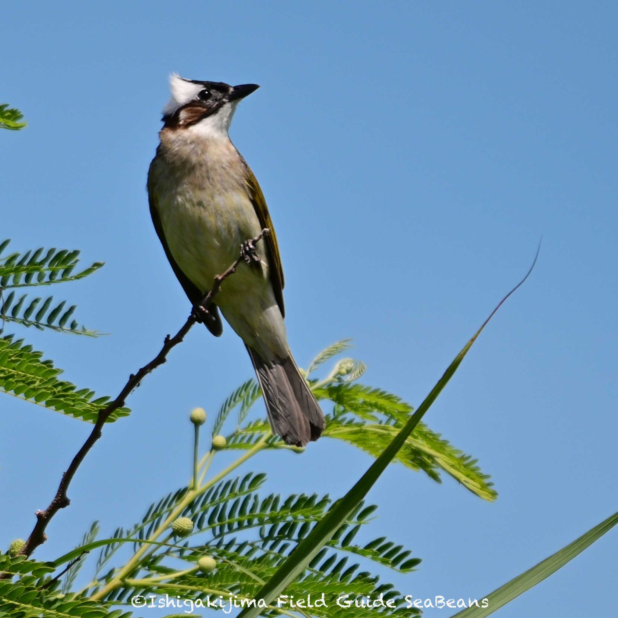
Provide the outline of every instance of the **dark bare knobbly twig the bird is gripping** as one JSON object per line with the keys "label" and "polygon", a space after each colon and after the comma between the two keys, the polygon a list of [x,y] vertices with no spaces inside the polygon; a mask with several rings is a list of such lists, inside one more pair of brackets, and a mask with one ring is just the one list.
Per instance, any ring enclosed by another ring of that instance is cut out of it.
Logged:
{"label": "dark bare knobbly twig the bird is gripping", "polygon": [[[120,394],[110,402],[106,407],[102,410],[99,410],[98,418],[96,419],[95,427],[93,428],[88,439],[83,443],[82,448],[77,452],[77,455],[73,458],[72,462],[67,468],[67,471],[62,475],[62,480],[60,481],[60,485],[58,486],[58,490],[56,491],[56,496],[51,501],[49,506],[45,510],[38,510],[36,512],[36,524],[33,528],[30,536],[28,536],[28,540],[22,548],[21,554],[25,554],[25,556],[30,556],[35,549],[43,544],[47,540],[47,535],[45,534],[45,528],[47,527],[49,521],[54,515],[60,510],[64,509],[64,507],[69,506],[70,500],[67,497],[67,489],[69,488],[70,482],[73,480],[75,476],[75,472],[77,472],[77,468],[82,463],[84,457],[88,454],[88,451],[94,446],[95,442],[101,438],[101,429],[106,420],[108,420],[109,416],[112,412],[115,412],[118,408],[121,408],[125,399],[129,397],[129,395],[133,392],[135,387],[139,386],[140,382],[153,370],[155,370],[159,365],[163,365],[167,360],[167,354],[169,351],[176,345],[178,345],[184,339],[187,332],[190,328],[198,321],[198,315],[200,313],[205,312],[210,307],[210,304],[213,302],[213,298],[218,294],[219,290],[221,290],[221,284],[227,277],[231,276],[236,272],[237,266],[241,261],[247,261],[247,251],[253,250],[253,245],[259,242],[264,236],[270,233],[268,228],[263,229],[260,234],[258,234],[254,239],[247,240],[247,242],[243,243],[240,248],[240,255],[237,260],[223,273],[214,277],[213,287],[202,298],[200,305],[195,307],[192,311],[191,315],[187,318],[187,321],[184,323],[182,328],[173,336],[170,337],[167,335],[163,342],[163,347],[161,351],[156,355],[153,360],[150,361],[147,365],[144,365],[137,373],[131,374],[129,376],[129,380],[122,388]],[[0,579],[4,578],[0,575]]]}

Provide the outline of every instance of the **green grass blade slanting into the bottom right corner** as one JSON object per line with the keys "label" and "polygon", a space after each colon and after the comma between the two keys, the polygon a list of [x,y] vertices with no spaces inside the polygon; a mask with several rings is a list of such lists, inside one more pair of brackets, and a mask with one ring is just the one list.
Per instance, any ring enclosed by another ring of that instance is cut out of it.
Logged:
{"label": "green grass blade slanting into the bottom right corner", "polygon": [[464,609],[462,612],[457,612],[452,618],[484,618],[489,616],[489,614],[493,614],[493,612],[512,601],[515,597],[522,595],[533,586],[536,586],[536,584],[542,582],[546,577],[564,567],[567,562],[581,554],[584,549],[593,544],[598,538],[601,538],[617,523],[618,512],[614,513],[611,517],[607,517],[606,520],[586,532],[585,535],[580,536],[573,543],[570,543],[565,548],[549,556],[549,558],[544,559],[543,562],[539,562],[535,567],[528,569],[525,573],[518,575],[510,582],[504,584],[504,586],[487,595],[487,607],[468,607],[468,609]]}

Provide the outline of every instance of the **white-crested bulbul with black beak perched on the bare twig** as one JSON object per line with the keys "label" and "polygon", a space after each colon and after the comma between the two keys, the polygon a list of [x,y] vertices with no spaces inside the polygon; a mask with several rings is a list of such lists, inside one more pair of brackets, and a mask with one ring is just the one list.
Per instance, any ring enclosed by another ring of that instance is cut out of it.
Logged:
{"label": "white-crested bulbul with black beak perched on the bare twig", "polygon": [[[249,352],[274,433],[305,446],[320,437],[324,414],[287,345],[283,270],[264,195],[228,134],[237,104],[258,86],[170,77],[161,143],[148,172],[150,212],[167,259],[197,306],[239,257],[203,317],[221,335],[219,310]],[[245,242],[268,227],[270,234]]]}

